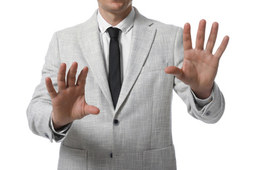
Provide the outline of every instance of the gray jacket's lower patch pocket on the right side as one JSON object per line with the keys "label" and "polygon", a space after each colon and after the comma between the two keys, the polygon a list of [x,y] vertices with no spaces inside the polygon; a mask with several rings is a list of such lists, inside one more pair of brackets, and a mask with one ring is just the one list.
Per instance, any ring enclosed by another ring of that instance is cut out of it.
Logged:
{"label": "gray jacket's lower patch pocket on the right side", "polygon": [[143,169],[177,170],[174,146],[144,151]]}

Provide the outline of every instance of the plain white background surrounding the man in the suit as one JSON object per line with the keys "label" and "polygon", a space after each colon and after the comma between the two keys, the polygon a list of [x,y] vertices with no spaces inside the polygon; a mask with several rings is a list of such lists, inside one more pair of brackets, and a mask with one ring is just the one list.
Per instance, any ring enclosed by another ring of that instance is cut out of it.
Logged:
{"label": "plain white background surrounding the man in the suit", "polygon": [[[256,169],[255,5],[253,1],[135,0],[141,14],[166,24],[219,22],[217,46],[230,43],[216,78],[226,99],[217,124],[204,124],[173,98],[173,139],[179,170]],[[96,0],[10,0],[0,3],[1,140],[0,169],[56,169],[59,143],[33,135],[26,108],[39,84],[49,42],[55,31],[85,22]],[[216,49],[215,49],[216,50]]]}

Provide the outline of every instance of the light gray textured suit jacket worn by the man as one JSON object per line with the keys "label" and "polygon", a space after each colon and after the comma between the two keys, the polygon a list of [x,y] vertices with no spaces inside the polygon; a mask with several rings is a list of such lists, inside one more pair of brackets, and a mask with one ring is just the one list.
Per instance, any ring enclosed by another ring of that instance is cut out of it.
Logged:
{"label": "light gray textured suit jacket worn by the man", "polygon": [[[87,22],[53,35],[41,83],[27,115],[33,133],[62,142],[58,169],[174,170],[173,90],[186,103],[188,113],[203,122],[215,123],[224,112],[224,98],[217,84],[211,101],[201,108],[188,86],[165,73],[168,65],[182,66],[182,28],[150,20],[135,11],[131,52],[116,110],[102,59],[96,12]],[[89,67],[85,100],[98,107],[100,114],[75,120],[66,133],[56,134],[49,126],[52,105],[45,77],[51,77],[58,90],[60,63],[69,68],[74,61],[78,70]]]}

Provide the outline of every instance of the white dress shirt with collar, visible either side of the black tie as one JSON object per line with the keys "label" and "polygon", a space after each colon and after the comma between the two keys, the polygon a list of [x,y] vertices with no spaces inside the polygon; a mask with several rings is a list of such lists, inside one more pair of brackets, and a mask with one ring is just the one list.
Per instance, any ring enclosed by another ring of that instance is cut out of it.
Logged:
{"label": "white dress shirt with collar, visible either side of the black tie", "polygon": [[[128,63],[129,53],[131,49],[131,38],[133,35],[133,23],[135,19],[135,10],[132,9],[129,15],[122,20],[118,25],[114,26],[121,31],[119,31],[119,48],[120,48],[120,63],[121,63],[121,82],[123,82],[123,77],[125,76],[125,71]],[[97,15],[98,28],[100,30],[100,42],[102,46],[102,54],[104,56],[104,63],[106,67],[106,73],[109,73],[109,49],[110,49],[110,35],[108,35],[108,27],[113,27],[108,24],[106,20],[101,16],[99,10]]]}

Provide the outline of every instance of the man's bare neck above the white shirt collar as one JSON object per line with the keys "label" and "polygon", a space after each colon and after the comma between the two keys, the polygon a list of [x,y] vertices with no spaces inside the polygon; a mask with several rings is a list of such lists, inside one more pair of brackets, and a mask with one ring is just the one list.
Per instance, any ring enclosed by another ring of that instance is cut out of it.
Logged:
{"label": "man's bare neck above the white shirt collar", "polygon": [[132,8],[133,7],[131,6],[122,12],[110,12],[102,9],[101,7],[99,7],[98,10],[100,11],[101,16],[104,18],[104,20],[106,20],[106,22],[108,22],[110,25],[116,26],[129,15]]}

